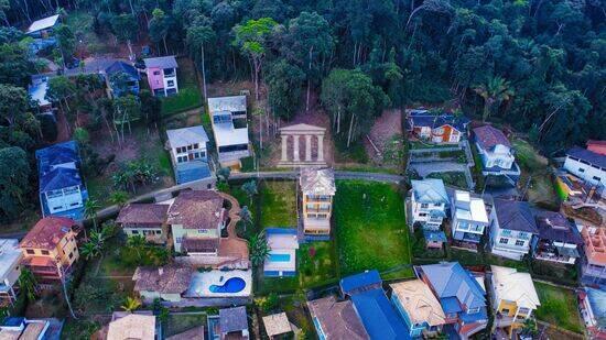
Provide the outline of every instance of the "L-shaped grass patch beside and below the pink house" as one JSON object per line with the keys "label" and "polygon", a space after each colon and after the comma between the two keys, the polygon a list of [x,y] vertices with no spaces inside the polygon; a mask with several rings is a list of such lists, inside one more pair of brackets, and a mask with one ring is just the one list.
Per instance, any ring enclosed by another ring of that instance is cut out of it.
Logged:
{"label": "L-shaped grass patch beside and below the pink house", "polygon": [[178,94],[162,98],[162,116],[171,116],[203,105],[202,92],[196,79],[196,68],[190,58],[177,61]]}

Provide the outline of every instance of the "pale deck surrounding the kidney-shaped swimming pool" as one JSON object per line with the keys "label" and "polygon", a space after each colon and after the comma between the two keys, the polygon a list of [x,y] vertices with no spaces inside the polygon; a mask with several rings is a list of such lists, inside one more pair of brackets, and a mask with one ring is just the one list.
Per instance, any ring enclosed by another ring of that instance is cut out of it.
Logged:
{"label": "pale deck surrounding the kidney-shaped swimming pool", "polygon": [[[239,277],[246,283],[245,288],[238,293],[213,293],[210,292],[212,285],[223,285],[229,278]],[[221,279],[223,278],[223,279]],[[248,297],[252,290],[252,272],[251,271],[210,271],[204,273],[194,273],[192,276],[192,283],[185,292],[186,298],[201,298],[201,297]]]}

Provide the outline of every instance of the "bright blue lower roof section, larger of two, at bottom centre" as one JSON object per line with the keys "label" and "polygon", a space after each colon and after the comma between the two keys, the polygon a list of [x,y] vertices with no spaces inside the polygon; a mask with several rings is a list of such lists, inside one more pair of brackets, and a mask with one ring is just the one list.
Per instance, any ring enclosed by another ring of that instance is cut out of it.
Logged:
{"label": "bright blue lower roof section, larger of two, at bottom centre", "polygon": [[405,323],[389,303],[383,289],[355,294],[351,301],[370,339],[411,339]]}

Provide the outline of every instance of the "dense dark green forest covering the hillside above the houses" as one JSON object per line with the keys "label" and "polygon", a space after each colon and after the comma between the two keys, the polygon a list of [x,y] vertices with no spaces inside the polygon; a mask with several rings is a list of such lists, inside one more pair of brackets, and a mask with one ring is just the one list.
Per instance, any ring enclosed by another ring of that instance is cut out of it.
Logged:
{"label": "dense dark green forest covering the hillside above the houses", "polygon": [[[453,99],[468,116],[528,133],[547,156],[606,139],[603,0],[1,0],[2,168],[33,151],[44,128],[25,91],[36,61],[14,28],[71,11],[89,12],[98,35],[190,54],[206,83],[252,79],[283,119],[316,95],[348,142],[382,108]],[[62,25],[56,35],[57,59],[73,55],[74,33]],[[56,80],[54,99],[71,86]],[[26,183],[19,166],[0,176],[2,191]]]}

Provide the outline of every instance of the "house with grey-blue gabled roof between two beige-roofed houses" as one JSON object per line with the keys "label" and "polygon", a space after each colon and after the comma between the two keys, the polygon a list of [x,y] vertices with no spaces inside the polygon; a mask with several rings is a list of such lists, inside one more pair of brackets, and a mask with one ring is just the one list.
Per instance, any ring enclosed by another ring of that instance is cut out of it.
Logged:
{"label": "house with grey-blue gabled roof between two beige-roofed houses", "polygon": [[443,331],[467,339],[488,323],[484,277],[475,276],[458,262],[415,267],[421,281],[430,286],[444,311]]}

